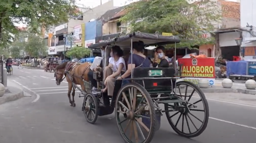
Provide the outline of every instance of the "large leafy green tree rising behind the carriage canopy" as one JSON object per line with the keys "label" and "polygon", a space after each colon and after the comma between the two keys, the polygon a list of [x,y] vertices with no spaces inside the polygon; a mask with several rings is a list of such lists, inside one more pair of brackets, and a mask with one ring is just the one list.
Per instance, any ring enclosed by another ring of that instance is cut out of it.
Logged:
{"label": "large leafy green tree rising behind the carriage canopy", "polygon": [[181,38],[177,47],[191,48],[209,44],[214,38],[202,34],[214,30],[212,21],[220,20],[216,2],[204,0],[191,4],[190,0],[141,0],[130,4],[120,20],[129,23],[132,32],[172,33]]}

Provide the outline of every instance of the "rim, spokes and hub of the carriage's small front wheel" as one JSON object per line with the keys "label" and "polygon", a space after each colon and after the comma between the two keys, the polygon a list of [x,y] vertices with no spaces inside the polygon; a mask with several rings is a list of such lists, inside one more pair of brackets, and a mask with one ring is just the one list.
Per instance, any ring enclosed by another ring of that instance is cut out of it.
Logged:
{"label": "rim, spokes and hub of the carriage's small front wheel", "polygon": [[[95,101],[93,97],[91,97],[91,95],[87,95],[84,99],[84,115],[89,121],[93,121],[96,117],[96,106],[94,104]],[[86,111],[87,107],[89,107],[89,109]],[[94,115],[93,118],[91,118],[92,115]]]}

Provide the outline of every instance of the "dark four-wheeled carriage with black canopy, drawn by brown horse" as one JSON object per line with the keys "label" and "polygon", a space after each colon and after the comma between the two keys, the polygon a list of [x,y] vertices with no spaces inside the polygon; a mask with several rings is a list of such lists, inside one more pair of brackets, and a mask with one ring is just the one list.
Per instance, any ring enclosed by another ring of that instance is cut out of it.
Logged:
{"label": "dark four-wheeled carriage with black canopy, drawn by brown horse", "polygon": [[[93,44],[89,48],[105,47],[104,68],[108,65],[111,46],[117,45],[123,50],[131,48],[132,52],[132,43],[135,41],[143,41],[148,46],[176,45],[177,42],[180,42],[178,37],[175,36],[135,32]],[[84,76],[88,73],[89,66],[90,64],[86,64],[82,72],[69,71],[66,69],[67,65],[65,65],[65,70],[60,70],[64,66],[58,68],[59,70],[55,73],[56,83],[59,85],[60,81],[63,80],[62,74],[66,74],[67,81],[70,81],[76,73],[82,73],[82,76],[79,77],[83,81],[83,83],[80,83],[83,90],[76,85],[78,79],[71,80],[73,83],[71,85],[73,86],[73,93],[74,88],[78,88],[82,92],[83,96],[80,96],[84,97],[82,110],[87,122],[94,124],[98,116],[109,115],[114,112],[119,131],[126,143],[150,143],[154,132],[160,129],[161,116],[164,112],[172,129],[181,136],[187,138],[199,136],[207,127],[209,107],[205,95],[193,83],[187,81],[176,82],[176,79],[180,78],[177,76],[176,67],[136,67],[131,72],[131,78],[115,81],[114,93],[110,97],[106,92],[98,94],[91,92],[91,83]],[[98,68],[93,74],[93,78],[97,80],[98,88],[103,87],[102,70]],[[129,82],[123,84],[124,80]],[[71,101],[70,92],[68,94],[71,105],[75,106],[74,100]],[[195,96],[196,98],[193,98]],[[197,104],[200,102],[203,109],[198,109]],[[163,104],[163,106],[160,106],[160,104]],[[192,112],[203,113],[203,118],[196,117]],[[192,121],[192,117],[198,121],[199,126]],[[175,119],[177,119],[176,122]],[[184,125],[187,126],[187,132],[184,131]]]}

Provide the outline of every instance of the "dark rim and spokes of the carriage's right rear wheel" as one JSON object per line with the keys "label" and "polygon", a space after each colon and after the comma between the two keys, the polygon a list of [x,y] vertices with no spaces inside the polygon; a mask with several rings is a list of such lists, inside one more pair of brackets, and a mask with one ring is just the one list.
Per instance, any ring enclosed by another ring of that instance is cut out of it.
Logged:
{"label": "dark rim and spokes of the carriage's right rear wheel", "polygon": [[[191,85],[188,85],[188,84],[186,84],[186,83],[182,83],[182,84],[180,84],[180,85],[186,85],[186,88],[185,88],[185,90],[187,91],[187,87],[192,87]],[[180,85],[177,85],[176,87],[178,87],[178,89],[176,89],[176,95],[177,94],[181,94],[181,92],[180,92],[180,90],[181,90],[181,88],[180,88]],[[193,88],[193,87],[192,87]],[[192,97],[192,95],[194,94],[194,92],[197,92],[198,94],[199,94],[199,91],[197,91],[197,89],[195,89],[195,88],[193,88],[193,91],[192,91],[192,93],[191,93],[191,95],[190,95],[190,98],[189,99],[187,99],[188,101],[190,101],[190,99],[191,99],[191,97]],[[187,92],[185,92],[185,94],[186,94]],[[201,102],[202,101],[202,97],[201,97],[201,95],[199,94],[199,96],[200,96],[200,100],[196,100],[196,102],[193,102],[192,104],[197,104],[198,102]],[[185,100],[186,100],[185,99]],[[204,125],[204,123],[205,123],[205,120],[206,120],[206,111],[205,111],[205,109],[206,109],[206,107],[205,107],[205,103],[204,102],[202,102],[203,103],[203,109],[204,109],[204,118],[203,118],[203,121],[201,120],[200,122],[202,122],[202,125],[200,125],[200,128],[196,128],[196,131],[195,132],[191,132],[191,133],[185,133],[185,132],[183,132],[182,130],[180,130],[178,127],[176,127],[176,129],[179,131],[179,132],[182,132],[183,134],[186,134],[186,135],[191,135],[191,134],[196,134],[197,132],[199,132],[201,129],[202,129],[202,127],[203,127],[203,125]],[[191,104],[189,105],[190,107],[192,106]],[[171,108],[169,108],[169,109],[171,109]],[[196,110],[191,110],[191,111],[196,111]],[[191,116],[192,117],[194,117],[194,118],[196,118],[194,115],[191,115],[191,114],[187,114],[188,116],[186,117],[186,115],[185,114],[182,114],[182,113],[180,113],[179,111],[174,111],[174,112],[176,112],[176,113],[174,113],[174,114],[172,114],[172,115],[170,115],[170,112],[167,112],[168,113],[168,116],[169,116],[169,118],[170,118],[170,120],[171,120],[171,122],[172,122],[172,124],[173,125],[175,125],[175,126],[177,126],[178,125],[178,123],[179,123],[179,120],[181,119],[181,116],[182,116],[182,120],[184,120],[184,117],[185,117],[185,122],[186,122],[186,125],[188,126],[188,120],[190,120],[191,122],[192,122],[192,119],[191,119]],[[180,114],[179,114],[180,113]],[[179,116],[179,118],[178,118],[178,121],[174,124],[174,122],[172,121],[172,117],[175,117],[176,115],[180,115]],[[191,116],[190,116],[191,115]],[[182,121],[183,123],[185,123],[184,121]],[[192,124],[193,124],[193,122],[192,122]],[[195,125],[193,124],[192,125],[194,128],[195,128]],[[191,127],[191,126],[190,126]]]}

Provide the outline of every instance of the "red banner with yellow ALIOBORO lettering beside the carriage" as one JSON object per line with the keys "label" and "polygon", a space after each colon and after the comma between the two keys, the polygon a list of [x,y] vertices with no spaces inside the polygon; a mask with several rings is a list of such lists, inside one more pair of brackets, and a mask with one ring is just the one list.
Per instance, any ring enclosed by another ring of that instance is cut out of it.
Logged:
{"label": "red banner with yellow ALIOBORO lettering beside the carriage", "polygon": [[182,77],[215,78],[214,58],[179,58]]}

